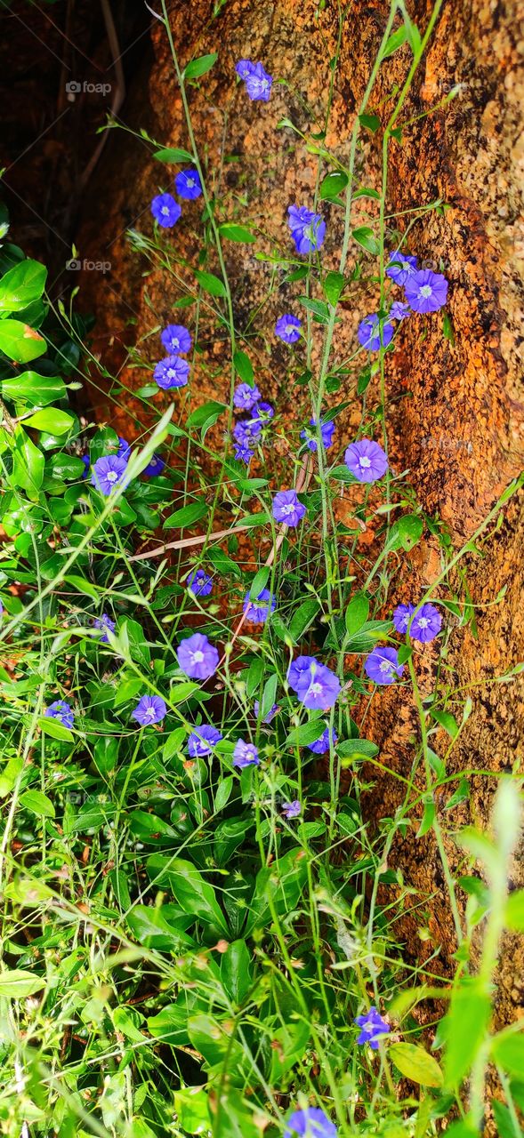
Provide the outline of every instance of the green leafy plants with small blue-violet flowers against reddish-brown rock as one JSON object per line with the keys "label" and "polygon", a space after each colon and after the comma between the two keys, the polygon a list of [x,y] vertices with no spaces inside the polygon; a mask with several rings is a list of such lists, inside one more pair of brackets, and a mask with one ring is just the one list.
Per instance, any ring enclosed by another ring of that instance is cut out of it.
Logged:
{"label": "green leafy plants with small blue-violet flowers against reddish-brown rock", "polygon": [[[460,570],[489,556],[521,484],[455,547],[409,472],[393,468],[386,428],[385,360],[402,322],[418,322],[421,346],[428,321],[453,335],[452,280],[411,253],[418,211],[395,218],[386,207],[388,147],[402,139],[440,7],[419,28],[392,3],[345,164],[326,145],[328,90],[311,141],[317,182],[309,200],[289,201],[276,248],[248,205],[215,193],[191,86],[216,53],[179,60],[162,5],[187,135],[178,149],[146,139],[158,184],[130,241],[145,271],[165,272],[173,318],[132,349],[145,379],[132,443],[80,411],[88,368],[115,403],[128,393],[91,354],[74,297],[51,303],[44,267],[9,241],[3,218],[7,1135],[423,1138],[445,1128],[468,1138],[486,1112],[503,1138],[521,1133],[523,1036],[492,1021],[502,931],[523,925],[523,893],[508,884],[519,784],[492,787],[490,833],[460,828],[470,772],[450,774],[449,760],[472,703],[445,665],[450,638],[475,620]],[[411,63],[380,125],[375,82],[404,43]],[[239,59],[231,73],[260,114],[281,79],[270,59]],[[374,188],[361,140],[378,130]],[[369,225],[354,225],[362,199]],[[442,201],[420,208],[445,214]],[[336,212],[334,267],[324,257]],[[191,263],[177,244],[181,217],[196,234]],[[295,290],[275,325],[296,385],[294,434],[259,386],[256,313],[237,327],[228,242],[253,246],[280,274],[276,288]],[[367,290],[378,304],[341,362],[342,306]],[[193,389],[202,327],[227,358],[204,403]],[[440,571],[392,603],[426,533]],[[376,824],[365,803],[382,767],[367,715],[393,684],[410,693],[417,732],[402,803]],[[457,939],[449,978],[436,958],[408,962],[399,942],[399,918],[419,904],[390,860],[409,828],[437,843]]]}

